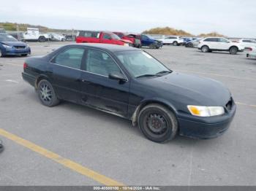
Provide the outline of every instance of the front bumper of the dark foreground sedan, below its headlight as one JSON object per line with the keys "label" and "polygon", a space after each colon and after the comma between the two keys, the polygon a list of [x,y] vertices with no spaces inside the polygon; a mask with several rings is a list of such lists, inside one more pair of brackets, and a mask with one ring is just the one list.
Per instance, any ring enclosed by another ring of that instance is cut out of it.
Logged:
{"label": "front bumper of the dark foreground sedan, below its headlight", "polygon": [[178,118],[179,134],[198,139],[211,139],[222,135],[229,128],[236,114],[236,104],[232,109],[215,117],[202,117],[202,121]]}

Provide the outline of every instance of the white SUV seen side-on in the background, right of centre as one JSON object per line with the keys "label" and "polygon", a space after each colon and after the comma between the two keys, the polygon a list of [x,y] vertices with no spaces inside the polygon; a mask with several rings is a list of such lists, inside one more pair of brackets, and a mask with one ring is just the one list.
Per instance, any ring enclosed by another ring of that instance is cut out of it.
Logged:
{"label": "white SUV seen side-on in the background, right of centre", "polygon": [[231,55],[236,55],[237,52],[244,51],[244,46],[238,42],[230,42],[222,37],[206,37],[200,40],[198,49],[202,50],[202,52],[227,51]]}

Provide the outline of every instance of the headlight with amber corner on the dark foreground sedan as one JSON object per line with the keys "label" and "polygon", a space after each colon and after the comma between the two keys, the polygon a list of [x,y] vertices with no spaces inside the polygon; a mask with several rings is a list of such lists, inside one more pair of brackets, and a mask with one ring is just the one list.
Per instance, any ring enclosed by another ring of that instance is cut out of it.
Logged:
{"label": "headlight with amber corner on the dark foreground sedan", "polygon": [[187,109],[192,115],[200,117],[211,117],[225,113],[222,106],[187,106]]}

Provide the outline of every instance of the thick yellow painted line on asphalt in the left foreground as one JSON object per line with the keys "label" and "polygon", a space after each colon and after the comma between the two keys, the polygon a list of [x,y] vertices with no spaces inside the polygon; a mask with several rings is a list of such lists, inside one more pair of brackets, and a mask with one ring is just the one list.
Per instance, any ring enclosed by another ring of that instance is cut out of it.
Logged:
{"label": "thick yellow painted line on asphalt in the left foreground", "polygon": [[79,174],[87,176],[90,179],[94,179],[95,181],[97,181],[101,184],[104,184],[106,186],[123,186],[124,185],[120,182],[116,182],[115,180],[108,178],[107,176],[104,176],[104,175],[99,174],[95,171],[92,171],[91,169],[86,168],[83,165],[75,163],[72,160],[61,157],[60,155],[57,155],[56,153],[51,152],[48,149],[39,147],[37,144],[34,144],[30,141],[27,141],[27,140],[22,139],[18,136],[15,136],[14,134],[9,133],[6,130],[3,130],[1,128],[0,128],[0,135],[4,136],[7,139],[15,141],[17,144],[20,144],[23,147],[31,149],[32,151],[37,152],[37,153],[39,153],[40,155],[42,155],[44,157],[48,157],[50,160],[54,160],[56,163],[64,165],[65,167],[67,167],[67,168],[69,168],[73,171],[76,171]]}

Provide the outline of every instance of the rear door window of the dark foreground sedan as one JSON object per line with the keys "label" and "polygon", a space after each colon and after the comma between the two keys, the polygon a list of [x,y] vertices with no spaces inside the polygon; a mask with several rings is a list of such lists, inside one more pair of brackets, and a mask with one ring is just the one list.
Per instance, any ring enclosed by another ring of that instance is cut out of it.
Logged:
{"label": "rear door window of the dark foreground sedan", "polygon": [[60,52],[54,59],[53,63],[61,66],[67,66],[73,69],[80,69],[83,59],[83,48],[71,47],[63,52]]}

